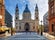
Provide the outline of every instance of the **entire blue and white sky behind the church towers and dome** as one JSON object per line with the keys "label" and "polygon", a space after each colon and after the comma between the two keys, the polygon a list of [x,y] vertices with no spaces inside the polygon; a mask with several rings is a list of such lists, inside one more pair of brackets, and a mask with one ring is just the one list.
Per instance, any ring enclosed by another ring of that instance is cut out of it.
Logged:
{"label": "entire blue and white sky behind the church towers and dome", "polygon": [[25,5],[28,4],[29,10],[31,11],[32,19],[35,15],[35,6],[38,5],[39,10],[39,23],[43,20],[44,14],[48,11],[48,0],[5,0],[5,8],[13,16],[13,25],[15,17],[16,4],[19,7],[19,19],[22,19],[22,14],[25,9]]}

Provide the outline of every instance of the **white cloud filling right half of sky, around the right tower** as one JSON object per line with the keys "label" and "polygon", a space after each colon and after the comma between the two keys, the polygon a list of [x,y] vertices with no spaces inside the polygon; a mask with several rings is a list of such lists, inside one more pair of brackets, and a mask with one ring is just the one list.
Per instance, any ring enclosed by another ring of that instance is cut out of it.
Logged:
{"label": "white cloud filling right half of sky, around the right tower", "polygon": [[[33,14],[35,13],[35,5],[38,5],[38,10],[39,10],[39,20],[43,20],[43,15],[48,11],[48,0],[29,0],[29,8]],[[34,18],[34,17],[33,17]],[[39,22],[40,23],[40,22]]]}

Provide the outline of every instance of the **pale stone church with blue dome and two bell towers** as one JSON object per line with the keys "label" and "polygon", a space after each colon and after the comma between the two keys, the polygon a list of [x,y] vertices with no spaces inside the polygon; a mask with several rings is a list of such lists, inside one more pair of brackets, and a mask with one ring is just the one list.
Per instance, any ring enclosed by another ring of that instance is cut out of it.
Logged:
{"label": "pale stone church with blue dome and two bell towers", "polygon": [[25,10],[23,11],[22,20],[19,19],[18,4],[16,5],[15,12],[15,27],[17,31],[37,31],[39,26],[39,12],[38,7],[35,7],[35,20],[31,19],[31,12],[26,4]]}

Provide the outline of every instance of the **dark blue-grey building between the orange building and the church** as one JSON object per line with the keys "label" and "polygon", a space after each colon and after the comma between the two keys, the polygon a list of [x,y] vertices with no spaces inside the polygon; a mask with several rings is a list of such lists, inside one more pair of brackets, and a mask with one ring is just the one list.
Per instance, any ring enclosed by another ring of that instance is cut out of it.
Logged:
{"label": "dark blue-grey building between the orange building and the church", "polygon": [[5,9],[5,25],[7,27],[12,27],[12,16],[6,9]]}

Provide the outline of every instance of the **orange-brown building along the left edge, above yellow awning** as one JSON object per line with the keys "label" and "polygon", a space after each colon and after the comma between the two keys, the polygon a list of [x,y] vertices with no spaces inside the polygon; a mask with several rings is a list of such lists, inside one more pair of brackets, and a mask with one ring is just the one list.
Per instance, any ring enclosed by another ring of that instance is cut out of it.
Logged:
{"label": "orange-brown building along the left edge, above yellow awning", "polygon": [[5,6],[4,0],[0,0],[0,26],[5,26]]}

